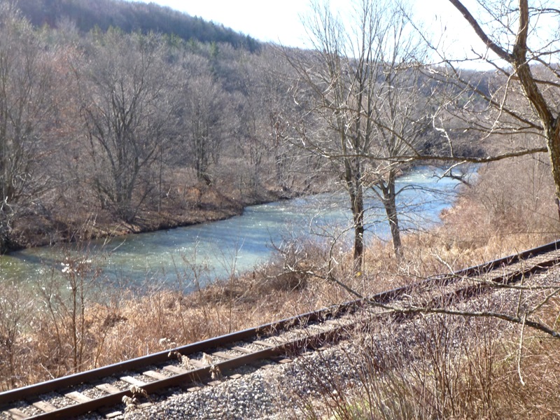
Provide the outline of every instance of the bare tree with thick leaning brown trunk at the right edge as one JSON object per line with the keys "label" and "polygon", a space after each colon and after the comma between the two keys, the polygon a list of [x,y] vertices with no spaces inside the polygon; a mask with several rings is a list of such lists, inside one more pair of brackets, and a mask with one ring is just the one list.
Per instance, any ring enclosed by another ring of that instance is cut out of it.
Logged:
{"label": "bare tree with thick leaning brown trunk at the right edge", "polygon": [[[496,143],[496,135],[506,136],[511,148],[500,148],[481,162],[547,152],[560,197],[560,9],[547,0],[534,6],[528,0],[477,1],[469,8],[459,0],[449,2],[482,44],[472,47],[470,57],[449,57],[432,44],[444,65],[430,72],[454,90],[437,117],[448,113],[462,119],[466,130],[479,132],[479,141]],[[470,60],[489,64],[493,73],[486,73],[484,81],[465,71]],[[442,131],[447,129],[444,120],[436,123]]]}

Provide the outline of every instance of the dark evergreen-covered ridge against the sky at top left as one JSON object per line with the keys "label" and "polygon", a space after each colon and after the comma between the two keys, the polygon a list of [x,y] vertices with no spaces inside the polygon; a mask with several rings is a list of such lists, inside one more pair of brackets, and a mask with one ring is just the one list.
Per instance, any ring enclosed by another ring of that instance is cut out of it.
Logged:
{"label": "dark evergreen-covered ridge against the sky at top left", "polygon": [[260,43],[223,25],[158,6],[124,0],[19,0],[18,7],[36,26],[57,27],[61,22],[74,22],[80,31],[94,27],[103,31],[118,27],[130,33],[141,31],[174,34],[186,41],[229,43],[235,48],[253,52]]}

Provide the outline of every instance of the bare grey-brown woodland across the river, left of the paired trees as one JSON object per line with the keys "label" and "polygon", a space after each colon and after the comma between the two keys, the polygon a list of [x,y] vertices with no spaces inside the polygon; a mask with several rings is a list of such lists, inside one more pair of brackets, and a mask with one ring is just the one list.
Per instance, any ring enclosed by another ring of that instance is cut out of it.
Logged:
{"label": "bare grey-brown woodland across the river, left of the paired trees", "polygon": [[36,28],[0,6],[2,251],[80,239],[103,218],[173,221],[211,189],[217,207],[305,189],[300,158],[272,138],[274,116],[295,109],[273,48]]}

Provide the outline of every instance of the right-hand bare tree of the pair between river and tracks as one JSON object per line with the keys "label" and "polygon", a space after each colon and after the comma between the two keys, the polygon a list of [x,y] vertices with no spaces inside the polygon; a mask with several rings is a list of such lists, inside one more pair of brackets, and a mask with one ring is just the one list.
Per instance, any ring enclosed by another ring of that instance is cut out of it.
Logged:
{"label": "right-hand bare tree of the pair between river and tracks", "polygon": [[407,31],[407,20],[401,13],[391,15],[388,33],[379,39],[381,45],[374,82],[374,104],[370,120],[374,139],[367,155],[365,179],[385,209],[391,229],[393,249],[402,258],[401,228],[397,198],[411,186],[397,188],[402,170],[421,155],[423,134],[430,127],[431,92],[425,91],[426,78],[421,76],[416,56],[419,45]]}

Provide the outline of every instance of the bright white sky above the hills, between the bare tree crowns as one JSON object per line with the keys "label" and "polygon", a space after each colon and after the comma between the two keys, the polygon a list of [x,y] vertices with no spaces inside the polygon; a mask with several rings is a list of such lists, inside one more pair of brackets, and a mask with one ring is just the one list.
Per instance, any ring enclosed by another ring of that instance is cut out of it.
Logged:
{"label": "bright white sky above the hills, between the bare tree crowns", "polygon": [[[174,10],[198,16],[204,20],[223,24],[235,31],[252,36],[260,41],[281,43],[290,47],[309,46],[302,16],[309,13],[309,0],[134,0],[158,3]],[[468,3],[466,0],[465,3]],[[348,0],[330,0],[335,8],[348,7]],[[464,35],[471,31],[463,17],[447,0],[413,0],[414,15],[427,27],[453,28],[454,34]],[[451,33],[451,31],[449,31]],[[474,39],[476,36],[466,37]],[[458,40],[449,38],[448,45],[458,45]],[[463,41],[464,42],[464,41]],[[470,45],[461,44],[461,48]]]}

